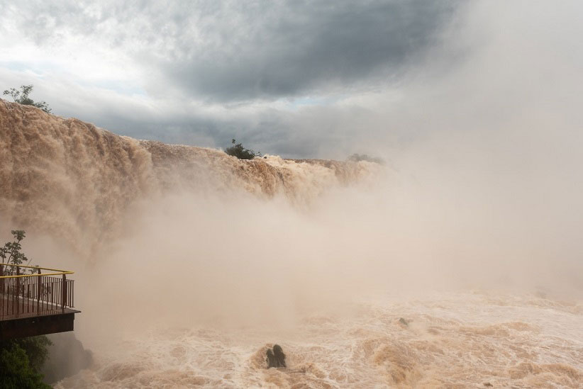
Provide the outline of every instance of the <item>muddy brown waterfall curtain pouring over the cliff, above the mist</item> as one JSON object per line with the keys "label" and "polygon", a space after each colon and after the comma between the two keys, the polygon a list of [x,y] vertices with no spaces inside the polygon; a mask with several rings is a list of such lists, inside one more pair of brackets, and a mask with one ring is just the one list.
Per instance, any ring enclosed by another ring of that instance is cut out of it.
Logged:
{"label": "muddy brown waterfall curtain pouring over the cliff, above the mist", "polygon": [[[371,164],[278,157],[240,161],[219,150],[135,140],[77,119],[0,100],[0,214],[93,251],[120,232],[126,210],[170,191],[284,195],[302,206],[350,184]],[[4,229],[7,227],[4,226]]]}

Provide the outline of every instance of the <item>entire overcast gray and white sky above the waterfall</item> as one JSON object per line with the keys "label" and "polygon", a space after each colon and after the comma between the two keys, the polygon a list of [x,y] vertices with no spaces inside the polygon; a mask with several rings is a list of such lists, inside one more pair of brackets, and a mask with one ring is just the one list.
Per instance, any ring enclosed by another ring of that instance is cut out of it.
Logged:
{"label": "entire overcast gray and white sky above the waterfall", "polygon": [[141,139],[382,154],[576,103],[582,7],[560,4],[0,0],[0,88]]}

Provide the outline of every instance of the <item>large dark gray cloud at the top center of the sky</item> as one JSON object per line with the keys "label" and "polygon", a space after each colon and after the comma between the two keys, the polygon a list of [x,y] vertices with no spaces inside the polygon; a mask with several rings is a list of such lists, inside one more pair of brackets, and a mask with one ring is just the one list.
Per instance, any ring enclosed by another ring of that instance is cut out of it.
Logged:
{"label": "large dark gray cloud at the top center of the sky", "polygon": [[218,11],[218,19],[236,22],[213,31],[215,44],[181,42],[187,58],[157,66],[174,84],[219,101],[370,87],[365,83],[394,77],[431,45],[450,11],[434,1],[239,6]]}

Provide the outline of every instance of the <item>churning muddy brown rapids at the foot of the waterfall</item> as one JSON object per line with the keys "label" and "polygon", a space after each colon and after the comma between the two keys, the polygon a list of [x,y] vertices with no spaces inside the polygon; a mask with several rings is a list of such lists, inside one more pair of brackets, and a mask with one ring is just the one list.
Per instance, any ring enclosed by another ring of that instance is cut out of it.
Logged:
{"label": "churning muddy brown rapids at the foot of the waterfall", "polygon": [[[583,305],[475,291],[355,304],[292,330],[155,329],[56,388],[580,388]],[[406,317],[409,325],[399,322]],[[289,368],[265,369],[277,339]],[[99,349],[96,349],[99,350]]]}

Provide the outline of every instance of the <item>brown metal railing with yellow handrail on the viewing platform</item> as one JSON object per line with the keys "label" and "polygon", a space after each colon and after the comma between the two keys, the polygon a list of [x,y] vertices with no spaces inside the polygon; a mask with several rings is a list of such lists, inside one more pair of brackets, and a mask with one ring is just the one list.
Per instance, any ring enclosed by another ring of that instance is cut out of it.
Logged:
{"label": "brown metal railing with yellow handrail on the viewing platform", "polygon": [[68,280],[67,274],[73,272],[0,264],[0,320],[55,315],[73,308],[74,281]]}

